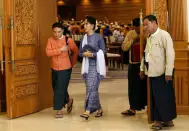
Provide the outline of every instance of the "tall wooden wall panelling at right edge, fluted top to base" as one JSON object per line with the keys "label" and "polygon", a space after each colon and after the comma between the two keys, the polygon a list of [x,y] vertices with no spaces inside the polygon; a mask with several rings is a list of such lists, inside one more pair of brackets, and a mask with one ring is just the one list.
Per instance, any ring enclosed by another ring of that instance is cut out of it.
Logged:
{"label": "tall wooden wall panelling at right edge, fluted top to base", "polygon": [[189,114],[189,50],[186,0],[167,0],[168,31],[175,48],[175,94],[178,114]]}

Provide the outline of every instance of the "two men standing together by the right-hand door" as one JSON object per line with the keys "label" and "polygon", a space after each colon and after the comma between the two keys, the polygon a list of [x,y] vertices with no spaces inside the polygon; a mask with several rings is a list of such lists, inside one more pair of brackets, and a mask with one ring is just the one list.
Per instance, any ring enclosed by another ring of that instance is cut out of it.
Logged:
{"label": "two men standing together by the right-hand door", "polygon": [[140,19],[133,19],[134,30],[128,32],[122,49],[129,51],[128,94],[130,109],[121,112],[133,116],[147,105],[147,80],[150,81],[150,117],[153,129],[172,127],[176,118],[173,88],[175,52],[168,32],[158,27],[157,18],[148,15],[143,19],[146,36],[144,56],[140,60]]}

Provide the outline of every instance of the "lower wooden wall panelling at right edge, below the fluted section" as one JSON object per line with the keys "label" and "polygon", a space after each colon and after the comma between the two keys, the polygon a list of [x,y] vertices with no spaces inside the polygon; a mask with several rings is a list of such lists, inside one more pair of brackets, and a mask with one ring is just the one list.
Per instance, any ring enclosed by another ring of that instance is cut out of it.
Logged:
{"label": "lower wooden wall panelling at right edge, below the fluted section", "polygon": [[177,113],[189,114],[189,50],[186,41],[174,41],[175,45],[175,79]]}

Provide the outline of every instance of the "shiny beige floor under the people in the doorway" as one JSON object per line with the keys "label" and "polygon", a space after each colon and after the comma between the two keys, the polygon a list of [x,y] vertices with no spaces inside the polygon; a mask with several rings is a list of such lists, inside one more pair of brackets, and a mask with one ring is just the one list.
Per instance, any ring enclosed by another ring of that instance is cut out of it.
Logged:
{"label": "shiny beige floor under the people in the doorway", "polygon": [[[83,112],[85,99],[84,83],[71,83],[70,94],[74,98],[74,108],[71,114],[62,119],[53,117],[52,108],[41,112],[8,120],[6,114],[0,115],[0,131],[148,131],[146,111],[137,112],[136,116],[123,117],[120,112],[127,109],[127,80],[117,79],[104,81],[100,87],[101,103],[104,116],[88,121],[79,117]],[[189,116],[178,116],[171,131],[189,131]]]}

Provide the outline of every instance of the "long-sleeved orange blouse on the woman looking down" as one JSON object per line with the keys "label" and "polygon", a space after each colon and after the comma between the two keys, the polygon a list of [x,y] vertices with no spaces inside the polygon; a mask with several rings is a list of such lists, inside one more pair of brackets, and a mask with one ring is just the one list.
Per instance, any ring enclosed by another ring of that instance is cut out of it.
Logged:
{"label": "long-sleeved orange blouse on the woman looking down", "polygon": [[75,42],[68,38],[68,45],[70,47],[70,51],[72,52],[72,61],[70,62],[69,52],[64,51],[61,52],[61,48],[66,45],[65,36],[62,39],[56,39],[54,37],[50,37],[47,41],[46,46],[46,54],[51,58],[50,67],[53,70],[66,70],[74,65],[77,62],[78,57],[78,48]]}

